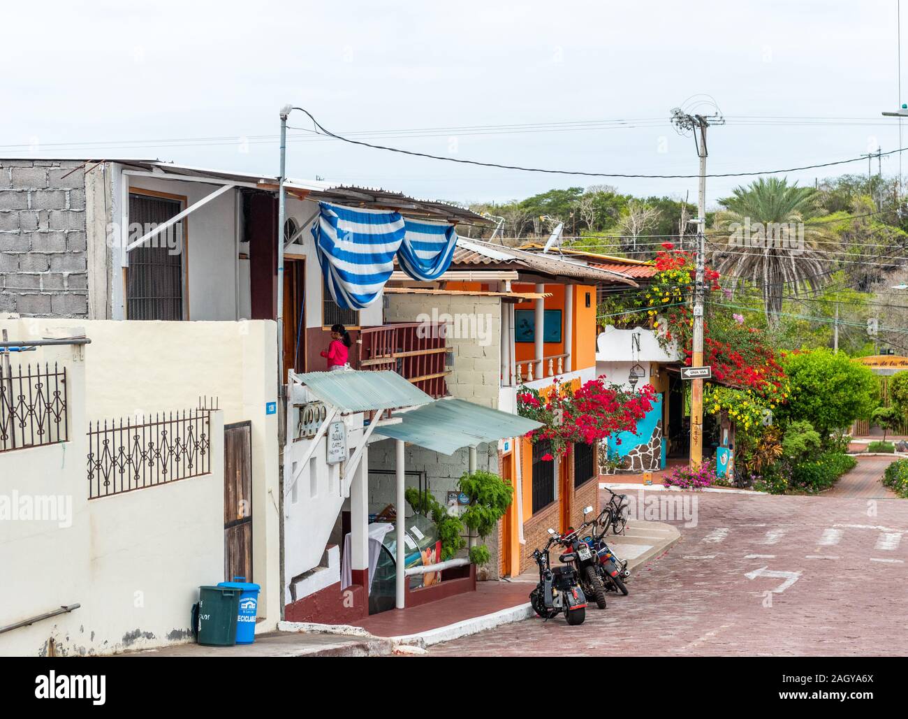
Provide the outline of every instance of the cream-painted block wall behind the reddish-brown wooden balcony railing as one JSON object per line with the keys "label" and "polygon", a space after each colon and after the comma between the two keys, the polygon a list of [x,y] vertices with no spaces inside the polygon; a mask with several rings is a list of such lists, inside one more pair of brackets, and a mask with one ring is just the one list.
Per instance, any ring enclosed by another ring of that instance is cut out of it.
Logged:
{"label": "cream-painted block wall behind the reddish-brown wooden balcony railing", "polygon": [[[501,385],[501,301],[498,297],[472,295],[388,295],[385,310],[388,322],[415,322],[420,315],[452,318],[476,318],[476,327],[483,338],[463,336],[461,323],[455,320],[449,330],[448,345],[453,350],[454,369],[448,376],[451,397],[491,409],[498,409],[498,388]],[[481,318],[481,325],[479,324]],[[462,323],[464,329],[469,322]]]}

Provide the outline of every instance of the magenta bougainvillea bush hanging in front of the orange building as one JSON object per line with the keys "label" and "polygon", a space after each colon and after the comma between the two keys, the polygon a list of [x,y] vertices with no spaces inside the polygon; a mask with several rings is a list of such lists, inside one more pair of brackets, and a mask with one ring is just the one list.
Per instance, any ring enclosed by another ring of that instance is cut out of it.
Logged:
{"label": "magenta bougainvillea bush hanging in front of the orange building", "polygon": [[[655,396],[651,385],[628,390],[607,382],[605,375],[590,379],[576,391],[556,378],[548,398],[538,389],[521,386],[517,392],[518,414],[543,424],[528,432],[530,441],[548,439],[552,451],[564,456],[575,442],[593,444],[616,432],[636,432],[637,422],[653,409]],[[547,458],[553,457],[543,457]]]}

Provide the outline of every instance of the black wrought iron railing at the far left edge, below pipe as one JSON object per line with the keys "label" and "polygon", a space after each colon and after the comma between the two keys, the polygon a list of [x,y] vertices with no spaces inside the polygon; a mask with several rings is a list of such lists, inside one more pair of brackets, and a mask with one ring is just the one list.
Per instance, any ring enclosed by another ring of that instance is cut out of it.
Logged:
{"label": "black wrought iron railing at the far left edge, below pipe", "polygon": [[54,363],[0,362],[0,452],[41,447],[69,438],[66,417],[66,368]]}

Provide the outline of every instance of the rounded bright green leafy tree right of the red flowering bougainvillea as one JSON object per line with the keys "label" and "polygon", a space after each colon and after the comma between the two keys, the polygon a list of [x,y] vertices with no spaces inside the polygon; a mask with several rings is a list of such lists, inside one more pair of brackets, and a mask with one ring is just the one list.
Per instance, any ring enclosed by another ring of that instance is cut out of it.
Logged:
{"label": "rounded bright green leafy tree right of the red flowering bougainvillea", "polygon": [[810,422],[824,443],[831,432],[848,428],[873,408],[873,372],[844,352],[795,352],[785,357],[782,366],[791,383],[791,396],[777,410],[780,419]]}

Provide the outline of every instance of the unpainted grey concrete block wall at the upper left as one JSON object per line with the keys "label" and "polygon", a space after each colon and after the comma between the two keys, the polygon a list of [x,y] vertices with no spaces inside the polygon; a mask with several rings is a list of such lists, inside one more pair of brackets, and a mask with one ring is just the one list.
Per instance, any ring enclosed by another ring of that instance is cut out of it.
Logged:
{"label": "unpainted grey concrete block wall at the upper left", "polygon": [[88,316],[85,178],[69,160],[0,160],[0,312]]}

